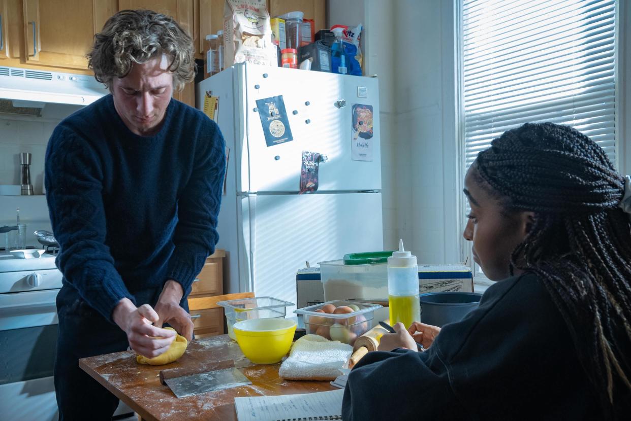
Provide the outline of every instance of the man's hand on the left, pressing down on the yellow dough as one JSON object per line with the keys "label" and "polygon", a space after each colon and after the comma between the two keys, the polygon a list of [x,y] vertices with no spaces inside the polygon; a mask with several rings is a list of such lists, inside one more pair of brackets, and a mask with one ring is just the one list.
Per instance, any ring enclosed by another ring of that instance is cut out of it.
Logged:
{"label": "man's hand on the left, pressing down on the yellow dough", "polygon": [[149,304],[136,308],[128,298],[123,298],[114,308],[112,318],[127,333],[129,347],[145,357],[153,358],[167,352],[175,339],[172,330],[151,325],[158,320],[158,314]]}

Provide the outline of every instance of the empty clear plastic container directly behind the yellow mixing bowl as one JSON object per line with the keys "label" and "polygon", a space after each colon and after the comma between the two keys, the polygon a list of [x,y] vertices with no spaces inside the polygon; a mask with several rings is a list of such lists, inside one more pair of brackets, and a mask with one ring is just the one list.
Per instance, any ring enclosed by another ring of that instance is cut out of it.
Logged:
{"label": "empty clear plastic container directly behind the yellow mixing bowl", "polygon": [[262,318],[285,318],[287,307],[293,306],[289,301],[283,301],[274,297],[254,297],[241,298],[217,303],[223,307],[228,325],[228,336],[237,340],[232,330],[232,325],[237,321],[262,319]]}

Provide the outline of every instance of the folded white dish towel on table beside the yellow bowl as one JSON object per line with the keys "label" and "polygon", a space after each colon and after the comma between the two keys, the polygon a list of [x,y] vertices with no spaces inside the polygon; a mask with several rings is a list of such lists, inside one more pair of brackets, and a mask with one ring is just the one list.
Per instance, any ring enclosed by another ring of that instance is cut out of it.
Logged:
{"label": "folded white dish towel on table beside the yellow bowl", "polygon": [[305,335],[292,346],[278,375],[289,380],[334,380],[348,361],[353,347],[320,335]]}

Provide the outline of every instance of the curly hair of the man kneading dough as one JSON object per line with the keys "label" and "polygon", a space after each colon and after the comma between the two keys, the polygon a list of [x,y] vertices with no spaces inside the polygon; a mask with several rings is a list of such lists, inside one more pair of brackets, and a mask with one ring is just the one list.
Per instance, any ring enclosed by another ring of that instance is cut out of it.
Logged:
{"label": "curly hair of the man kneading dough", "polygon": [[88,67],[97,81],[112,86],[114,78],[124,78],[133,63],[142,64],[162,54],[169,59],[174,89],[195,78],[192,38],[170,16],[151,10],[121,10],[105,22],[94,36],[87,55]]}

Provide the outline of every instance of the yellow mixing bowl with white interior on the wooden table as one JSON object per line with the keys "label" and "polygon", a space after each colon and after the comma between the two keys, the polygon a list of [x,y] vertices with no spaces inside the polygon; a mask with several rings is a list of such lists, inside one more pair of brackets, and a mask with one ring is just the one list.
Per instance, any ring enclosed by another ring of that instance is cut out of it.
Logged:
{"label": "yellow mixing bowl with white interior on the wooden table", "polygon": [[237,321],[232,326],[243,354],[254,364],[275,364],[292,347],[296,322],[266,318]]}

